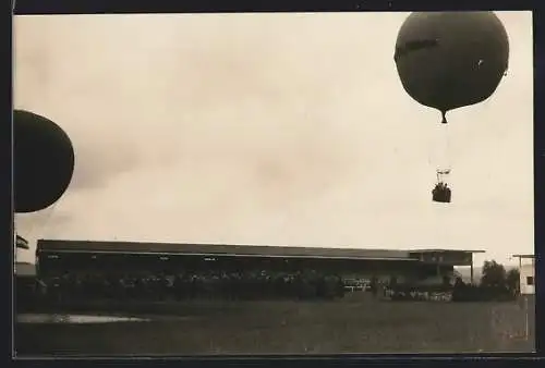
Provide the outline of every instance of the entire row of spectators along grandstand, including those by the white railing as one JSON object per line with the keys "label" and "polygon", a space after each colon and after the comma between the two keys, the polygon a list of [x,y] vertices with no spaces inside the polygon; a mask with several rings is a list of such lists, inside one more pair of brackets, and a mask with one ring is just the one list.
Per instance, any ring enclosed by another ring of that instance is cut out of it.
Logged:
{"label": "entire row of spectators along grandstand, including those by the white railing", "polygon": [[270,270],[185,272],[71,271],[41,275],[33,287],[34,298],[58,302],[98,299],[184,300],[184,299],[335,299],[346,292],[368,292],[377,298],[450,299],[461,280],[441,285],[398,283],[397,278],[342,279],[314,270],[281,272]]}

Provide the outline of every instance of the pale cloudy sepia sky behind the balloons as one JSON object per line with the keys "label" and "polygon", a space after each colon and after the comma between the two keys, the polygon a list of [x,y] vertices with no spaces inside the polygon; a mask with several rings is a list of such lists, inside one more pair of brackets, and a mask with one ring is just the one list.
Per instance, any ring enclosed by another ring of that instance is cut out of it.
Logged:
{"label": "pale cloudy sepia sky behind the balloons", "polygon": [[393,62],[408,13],[39,15],[14,21],[14,107],[61,125],[75,171],[37,238],[533,253],[530,12],[498,12],[509,71],[440,114]]}

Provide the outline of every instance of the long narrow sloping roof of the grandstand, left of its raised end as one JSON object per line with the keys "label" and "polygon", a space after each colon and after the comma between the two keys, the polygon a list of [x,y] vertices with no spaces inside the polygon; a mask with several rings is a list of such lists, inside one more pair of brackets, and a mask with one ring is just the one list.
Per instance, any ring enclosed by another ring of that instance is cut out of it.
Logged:
{"label": "long narrow sloping roof of the grandstand, left of its raised end", "polygon": [[239,257],[338,258],[404,261],[416,260],[411,258],[409,252],[407,250],[57,240],[39,240],[37,252],[229,255]]}

